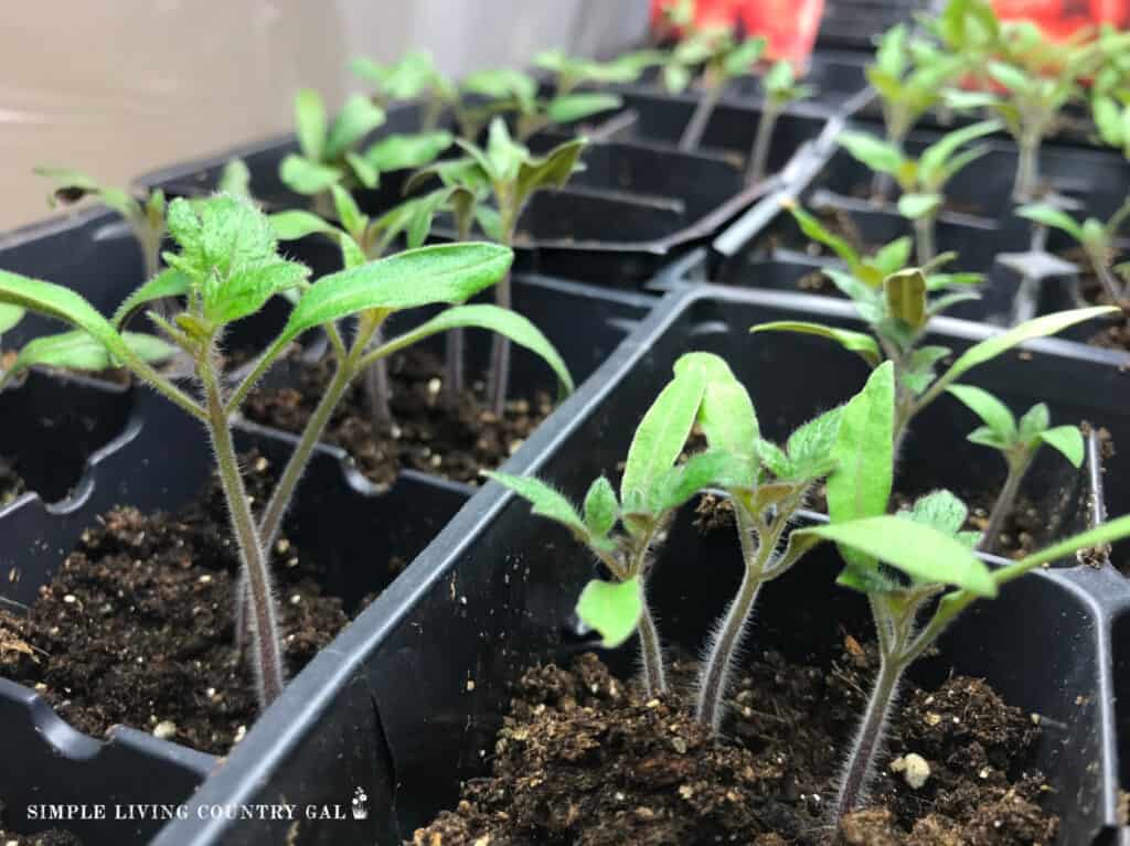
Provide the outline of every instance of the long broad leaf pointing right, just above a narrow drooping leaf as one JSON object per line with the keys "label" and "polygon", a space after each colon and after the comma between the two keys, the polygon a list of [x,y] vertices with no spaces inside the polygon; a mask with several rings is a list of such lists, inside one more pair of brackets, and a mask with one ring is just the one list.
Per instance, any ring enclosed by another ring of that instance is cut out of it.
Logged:
{"label": "long broad leaf pointing right, just above a narrow drooping leaf", "polygon": [[513,259],[511,250],[494,244],[442,244],[331,273],[303,294],[275,344],[367,308],[462,303],[502,279]]}

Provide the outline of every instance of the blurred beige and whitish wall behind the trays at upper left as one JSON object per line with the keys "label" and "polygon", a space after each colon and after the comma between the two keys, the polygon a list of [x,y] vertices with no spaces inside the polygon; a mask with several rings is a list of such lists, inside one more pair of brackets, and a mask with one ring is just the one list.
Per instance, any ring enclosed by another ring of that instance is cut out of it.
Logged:
{"label": "blurred beige and whitish wall behind the trays at upper left", "polygon": [[646,0],[63,0],[0,17],[0,230],[50,213],[36,165],[107,184],[289,129],[292,97],[364,90],[354,55],[459,76],[636,43]]}

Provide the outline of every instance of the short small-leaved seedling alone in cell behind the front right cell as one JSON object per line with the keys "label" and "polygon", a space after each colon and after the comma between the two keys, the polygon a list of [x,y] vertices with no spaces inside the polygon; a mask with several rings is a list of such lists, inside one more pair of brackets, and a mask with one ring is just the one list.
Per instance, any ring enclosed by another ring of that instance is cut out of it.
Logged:
{"label": "short small-leaved seedling alone in cell behind the front right cell", "polygon": [[1077,426],[1052,426],[1048,405],[1042,402],[1028,409],[1017,421],[1005,403],[981,387],[950,385],[947,390],[984,424],[970,434],[970,441],[999,451],[1008,464],[1005,486],[989,514],[980,544],[981,551],[993,552],[1036,452],[1048,444],[1060,452],[1072,466],[1079,468],[1084,456],[1083,433]]}

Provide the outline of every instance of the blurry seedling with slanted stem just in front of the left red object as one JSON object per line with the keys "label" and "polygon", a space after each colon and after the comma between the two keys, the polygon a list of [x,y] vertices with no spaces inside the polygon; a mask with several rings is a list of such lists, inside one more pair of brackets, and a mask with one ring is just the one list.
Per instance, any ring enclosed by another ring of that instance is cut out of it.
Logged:
{"label": "blurry seedling with slanted stem just in front of the left red object", "polygon": [[679,139],[680,150],[698,149],[725,84],[753,72],[754,64],[764,52],[764,38],[739,42],[727,26],[694,28],[676,45],[663,67],[663,84],[669,91],[677,94],[685,90],[690,85],[694,69],[702,66],[702,95]]}

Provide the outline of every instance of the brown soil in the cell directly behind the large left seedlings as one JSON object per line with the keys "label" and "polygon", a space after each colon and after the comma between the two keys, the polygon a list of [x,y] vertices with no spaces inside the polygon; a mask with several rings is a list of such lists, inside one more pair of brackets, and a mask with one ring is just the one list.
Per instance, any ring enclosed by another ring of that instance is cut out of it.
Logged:
{"label": "brown soil in the cell directly behind the large left seedlings", "polygon": [[[305,427],[333,376],[332,360],[295,360],[297,383],[290,387],[257,387],[243,415],[258,424],[298,433]],[[443,403],[443,364],[423,350],[389,360],[392,426],[379,426],[365,409],[360,381],[338,404],[324,435],[344,447],[360,471],[379,485],[391,485],[401,468],[412,468],[453,481],[479,481],[508,459],[553,410],[549,393],[506,403],[499,419],[489,410],[486,391],[476,383],[454,408]]]}

